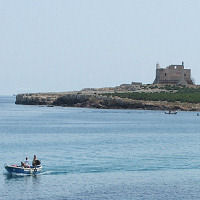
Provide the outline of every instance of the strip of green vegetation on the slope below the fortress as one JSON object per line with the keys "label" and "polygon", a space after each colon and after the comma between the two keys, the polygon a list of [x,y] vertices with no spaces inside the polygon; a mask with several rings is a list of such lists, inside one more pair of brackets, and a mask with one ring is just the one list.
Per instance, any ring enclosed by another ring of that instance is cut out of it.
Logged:
{"label": "strip of green vegetation on the slope below the fortress", "polygon": [[200,103],[200,88],[187,88],[187,87],[177,87],[177,86],[170,86],[167,88],[169,90],[168,92],[160,92],[160,93],[128,92],[128,93],[113,93],[105,95],[118,96],[121,98],[129,98],[129,99],[144,100],[144,101],[168,101],[168,102],[179,101],[188,103]]}

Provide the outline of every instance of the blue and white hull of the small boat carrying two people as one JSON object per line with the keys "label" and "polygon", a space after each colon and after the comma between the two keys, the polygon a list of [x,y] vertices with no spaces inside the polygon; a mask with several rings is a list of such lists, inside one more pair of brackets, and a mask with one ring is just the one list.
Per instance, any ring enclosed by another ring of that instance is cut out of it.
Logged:
{"label": "blue and white hull of the small boat carrying two people", "polygon": [[42,166],[30,166],[30,167],[23,167],[23,166],[17,166],[17,165],[5,165],[5,169],[10,174],[32,174],[36,175],[39,174],[42,171]]}

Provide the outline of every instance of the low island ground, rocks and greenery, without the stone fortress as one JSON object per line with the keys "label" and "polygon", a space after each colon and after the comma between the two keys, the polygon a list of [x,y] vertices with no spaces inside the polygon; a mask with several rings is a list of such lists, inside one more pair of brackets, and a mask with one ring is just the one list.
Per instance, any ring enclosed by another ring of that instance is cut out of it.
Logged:
{"label": "low island ground, rocks and greenery, without the stone fortress", "polygon": [[[126,84],[125,88],[123,85],[121,88],[118,86],[109,89],[84,89],[77,92],[18,94],[16,95],[15,103],[22,105],[46,105],[49,107],[200,111],[199,87],[189,89],[177,86],[163,87],[155,85],[140,85],[139,87],[137,85],[135,89],[132,85],[131,87],[133,91],[130,91],[129,85]],[[179,93],[180,95],[178,95]],[[193,95],[189,96],[189,100],[186,98],[188,94]],[[154,100],[154,96],[158,96],[158,100]],[[164,99],[163,96],[165,97]],[[172,101],[175,97],[180,98],[179,96],[182,97],[180,101],[176,99],[174,102]],[[144,99],[141,99],[141,97]],[[197,101],[194,97],[197,98]],[[159,98],[162,98],[162,100],[159,100]]]}

